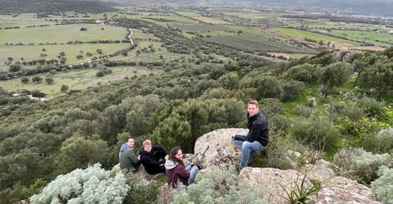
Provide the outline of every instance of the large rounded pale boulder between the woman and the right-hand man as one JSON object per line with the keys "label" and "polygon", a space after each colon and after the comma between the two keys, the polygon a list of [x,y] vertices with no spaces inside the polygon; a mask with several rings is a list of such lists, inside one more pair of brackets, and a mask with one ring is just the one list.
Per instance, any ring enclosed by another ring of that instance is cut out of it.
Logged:
{"label": "large rounded pale boulder between the woman and the right-hand man", "polygon": [[205,168],[210,165],[239,165],[241,151],[231,143],[234,133],[248,132],[248,129],[219,129],[203,134],[195,142],[194,163]]}

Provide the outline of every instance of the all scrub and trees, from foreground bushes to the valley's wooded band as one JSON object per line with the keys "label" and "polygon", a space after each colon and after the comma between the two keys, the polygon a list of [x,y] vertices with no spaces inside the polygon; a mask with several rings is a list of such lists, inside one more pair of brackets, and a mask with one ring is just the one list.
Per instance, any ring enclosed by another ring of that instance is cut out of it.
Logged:
{"label": "all scrub and trees, from foreground bushes to the valley's wooded band", "polygon": [[[61,90],[66,94],[49,101],[30,99],[26,96],[30,90],[13,96],[14,92],[0,89],[0,203],[12,203],[33,194],[38,196],[33,196],[31,202],[44,199],[46,203],[49,198],[45,193],[54,194],[50,186],[63,185],[64,194],[68,193],[69,185],[62,183],[68,176],[77,177],[82,183],[100,185],[97,179],[81,179],[85,172],[78,168],[88,168],[85,171],[101,174],[99,179],[114,179],[111,181],[128,187],[128,191],[140,192],[137,195],[141,197],[130,198],[130,194],[125,196],[124,189],[119,189],[121,198],[116,198],[116,202],[121,203],[123,199],[124,203],[142,202],[147,199],[143,195],[149,195],[151,203],[159,202],[155,197],[159,194],[159,185],[155,181],[130,175],[124,181],[123,177],[107,171],[118,163],[119,146],[125,136],[134,136],[137,147],[144,139],[152,139],[168,150],[179,145],[185,152],[192,152],[196,139],[206,132],[245,128],[245,103],[250,99],[260,101],[271,130],[267,147],[269,159],[256,162],[257,167],[286,169],[289,165],[279,155],[295,150],[303,153],[303,159],[308,162],[319,158],[334,161],[341,167],[342,175],[372,186],[381,200],[390,199],[379,183],[387,183],[386,186],[392,188],[393,48],[383,52],[359,52],[347,63],[337,61],[332,52],[272,63],[254,54],[266,51],[272,43],[267,41],[269,44],[259,44],[256,48],[252,46],[256,42],[254,37],[250,37],[250,43],[245,46],[244,41],[241,45],[234,43],[238,36],[187,39],[179,30],[138,19],[119,17],[108,23],[154,34],[162,43],[161,48],[191,57],[168,61],[106,59],[92,63],[102,72],[97,72],[100,76],[110,74],[105,66],[138,64],[165,71],[157,75],[125,76],[86,90],[65,85]],[[223,40],[217,43],[220,38]],[[278,49],[279,42],[274,45]],[[134,48],[138,48],[137,45],[122,51],[127,53]],[[287,52],[303,49],[285,48]],[[138,51],[154,52],[148,48]],[[8,79],[27,72],[70,69],[67,65],[45,63],[43,61],[42,68],[31,71],[12,65],[10,72],[2,72],[0,76]],[[15,74],[8,76],[10,73]],[[39,90],[32,92],[40,93]],[[94,165],[96,163],[101,163],[101,167]],[[223,203],[229,201],[227,199],[239,201],[233,197],[234,190],[239,190],[233,170],[212,171],[223,176],[209,184],[206,177],[201,176],[199,183],[188,192],[181,190],[182,194],[175,196],[174,202],[190,201],[190,194],[196,194],[205,185],[220,187],[223,181],[219,179],[225,178],[233,178],[225,180],[231,188],[217,197]],[[49,187],[43,188],[48,183]],[[109,184],[103,182],[102,185],[108,187]],[[243,190],[248,192],[247,188]],[[41,192],[44,193],[39,194]],[[208,193],[212,197],[218,192]],[[96,196],[103,199],[99,196],[105,195]],[[85,201],[82,197],[72,194],[59,200]],[[195,203],[204,203],[210,197],[192,196],[192,199]],[[115,202],[112,198],[105,199]]]}

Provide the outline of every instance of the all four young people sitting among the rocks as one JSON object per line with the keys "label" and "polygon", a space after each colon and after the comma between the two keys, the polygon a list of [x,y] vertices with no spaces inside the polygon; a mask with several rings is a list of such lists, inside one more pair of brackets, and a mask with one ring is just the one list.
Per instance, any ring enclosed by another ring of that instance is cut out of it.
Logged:
{"label": "all four young people sitting among the rocks", "polygon": [[[250,100],[247,104],[248,132],[234,133],[230,136],[232,143],[241,150],[239,169],[250,165],[269,141],[269,126],[265,115],[259,112],[259,103]],[[154,153],[156,152],[156,153]],[[194,181],[200,167],[184,166],[183,152],[180,147],[174,147],[170,154],[161,145],[152,145],[150,140],[143,141],[139,156],[134,153],[134,139],[128,137],[121,145],[119,153],[120,167],[136,172],[141,163],[149,174],[166,172],[167,183],[177,187],[179,182],[189,185]]]}

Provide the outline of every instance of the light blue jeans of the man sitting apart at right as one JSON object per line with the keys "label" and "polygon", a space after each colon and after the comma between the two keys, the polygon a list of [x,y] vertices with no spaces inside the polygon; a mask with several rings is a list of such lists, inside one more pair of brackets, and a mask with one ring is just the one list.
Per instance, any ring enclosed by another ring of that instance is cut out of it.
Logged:
{"label": "light blue jeans of the man sitting apart at right", "polygon": [[[240,134],[246,136],[248,132],[242,132]],[[241,160],[239,165],[241,169],[247,165],[248,159],[250,158],[250,152],[252,150],[263,150],[263,145],[261,145],[259,141],[253,141],[250,143],[248,141],[238,141],[233,138],[231,138],[231,141],[236,147],[241,149]]]}

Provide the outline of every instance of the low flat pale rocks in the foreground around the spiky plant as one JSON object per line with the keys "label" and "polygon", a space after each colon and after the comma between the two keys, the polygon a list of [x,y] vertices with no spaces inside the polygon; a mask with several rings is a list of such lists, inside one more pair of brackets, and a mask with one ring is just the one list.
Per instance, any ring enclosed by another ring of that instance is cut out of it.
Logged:
{"label": "low flat pale rocks in the foreground around the spiky plant", "polygon": [[[295,183],[300,187],[303,176],[296,170],[245,167],[239,174],[239,183],[249,182],[251,185],[263,186],[265,188],[265,201],[268,201],[270,204],[282,204],[286,203],[283,196],[288,198],[285,190],[288,192],[295,190]],[[351,179],[332,176],[330,179],[323,181],[321,185],[323,187],[319,190],[318,196],[316,194],[309,196],[309,203],[381,204],[374,200],[369,187]],[[307,179],[307,175],[304,186],[312,187],[312,183]]]}

